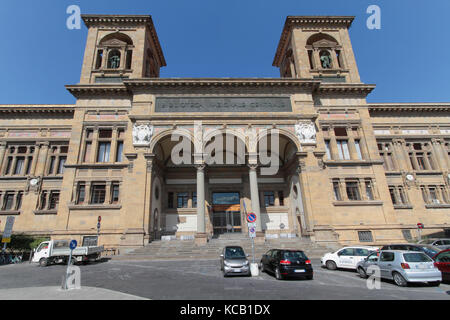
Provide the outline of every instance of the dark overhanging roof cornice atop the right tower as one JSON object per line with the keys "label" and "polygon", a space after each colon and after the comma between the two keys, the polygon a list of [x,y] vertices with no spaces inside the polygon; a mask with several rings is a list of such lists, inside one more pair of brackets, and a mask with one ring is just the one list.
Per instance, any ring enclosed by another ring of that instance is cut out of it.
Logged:
{"label": "dark overhanging roof cornice atop the right tower", "polygon": [[288,16],[284,24],[283,32],[281,33],[281,38],[273,60],[273,66],[280,66],[284,51],[289,43],[289,37],[294,27],[326,26],[350,28],[354,19],[354,16]]}

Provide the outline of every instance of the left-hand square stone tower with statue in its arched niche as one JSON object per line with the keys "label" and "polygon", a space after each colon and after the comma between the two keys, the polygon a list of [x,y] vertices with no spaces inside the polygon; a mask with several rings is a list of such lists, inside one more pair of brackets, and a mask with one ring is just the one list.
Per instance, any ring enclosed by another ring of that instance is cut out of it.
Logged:
{"label": "left-hand square stone tower with statue in its arched niche", "polygon": [[88,28],[80,84],[158,78],[166,61],[151,16],[82,15]]}

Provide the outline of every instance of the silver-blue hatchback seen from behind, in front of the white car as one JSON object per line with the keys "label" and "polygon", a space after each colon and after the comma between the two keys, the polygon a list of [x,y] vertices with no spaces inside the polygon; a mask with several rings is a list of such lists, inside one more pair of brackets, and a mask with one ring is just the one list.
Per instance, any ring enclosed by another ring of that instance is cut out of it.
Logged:
{"label": "silver-blue hatchback seen from behind, in front of the white car", "polygon": [[368,276],[368,268],[380,268],[380,277],[394,280],[400,287],[406,287],[409,282],[428,282],[439,286],[442,274],[434,266],[433,260],[426,254],[417,251],[382,250],[374,252],[359,262],[356,270],[362,278]]}

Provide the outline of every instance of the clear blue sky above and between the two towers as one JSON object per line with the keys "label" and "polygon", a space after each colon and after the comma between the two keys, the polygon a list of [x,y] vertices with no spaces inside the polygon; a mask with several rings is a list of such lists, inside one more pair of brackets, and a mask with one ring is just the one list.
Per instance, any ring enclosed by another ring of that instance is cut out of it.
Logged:
{"label": "clear blue sky above and between the two towers", "polygon": [[[354,15],[350,29],[370,102],[450,102],[448,0],[1,0],[0,104],[74,103],[87,29],[66,9],[151,14],[166,57],[161,77],[279,77],[272,61],[288,15]],[[366,27],[371,4],[381,30]]]}

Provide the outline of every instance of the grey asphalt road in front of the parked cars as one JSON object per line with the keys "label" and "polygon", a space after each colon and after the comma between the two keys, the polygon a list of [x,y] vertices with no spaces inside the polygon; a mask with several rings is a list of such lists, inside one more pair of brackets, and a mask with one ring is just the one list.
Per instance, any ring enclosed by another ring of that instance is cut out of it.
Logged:
{"label": "grey asphalt road in front of the parked cars", "polygon": [[[266,273],[253,278],[224,278],[218,260],[110,260],[80,268],[82,286],[155,300],[450,300],[450,284],[440,287],[413,284],[400,288],[383,280],[380,290],[369,290],[366,281],[356,272],[322,269],[318,260],[313,260],[314,280],[278,281]],[[65,270],[63,265],[44,268],[28,263],[0,266],[0,288],[59,286]]]}

